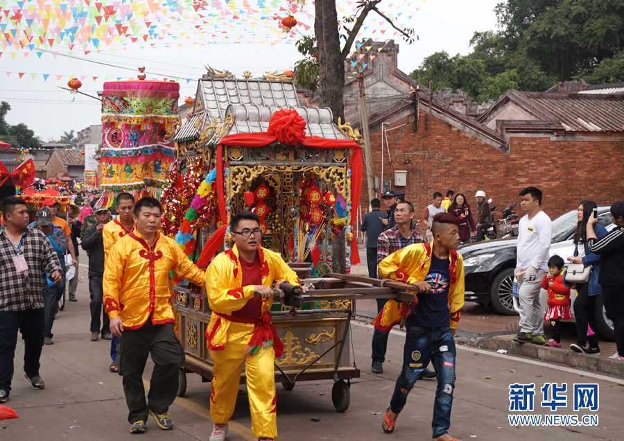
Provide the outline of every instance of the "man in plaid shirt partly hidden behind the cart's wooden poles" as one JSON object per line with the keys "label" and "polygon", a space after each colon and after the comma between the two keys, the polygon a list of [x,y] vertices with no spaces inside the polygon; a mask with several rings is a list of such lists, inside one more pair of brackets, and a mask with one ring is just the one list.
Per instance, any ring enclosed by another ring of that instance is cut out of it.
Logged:
{"label": "man in plaid shirt partly hidden behind the cart's wooden poles", "polygon": [[[395,207],[396,225],[390,230],[379,234],[377,238],[377,264],[393,252],[400,250],[413,243],[422,243],[422,236],[415,228],[412,228],[414,206],[410,202],[399,202]],[[372,277],[372,276],[371,276]],[[377,299],[377,313],[381,312],[387,299]],[[388,347],[388,334],[390,329],[375,329],[372,339],[372,365],[370,370],[374,374],[383,372],[385,361],[385,349]]]}

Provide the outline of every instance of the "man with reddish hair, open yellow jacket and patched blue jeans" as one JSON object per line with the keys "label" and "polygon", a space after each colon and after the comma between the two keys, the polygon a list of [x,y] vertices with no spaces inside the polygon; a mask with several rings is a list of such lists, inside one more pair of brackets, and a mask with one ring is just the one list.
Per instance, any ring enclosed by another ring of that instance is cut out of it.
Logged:
{"label": "man with reddish hair, open yellow jacket and patched blue jeans", "polygon": [[[412,284],[417,301],[407,305],[404,361],[395,392],[383,419],[383,431],[395,430],[397,417],[419,374],[431,361],[437,373],[433,404],[433,440],[451,441],[451,408],[455,389],[455,329],[464,305],[464,263],[456,251],[460,245],[459,220],[449,213],[436,214],[432,243],[410,245],[379,263],[379,274]],[[404,315],[405,316],[405,315]]]}

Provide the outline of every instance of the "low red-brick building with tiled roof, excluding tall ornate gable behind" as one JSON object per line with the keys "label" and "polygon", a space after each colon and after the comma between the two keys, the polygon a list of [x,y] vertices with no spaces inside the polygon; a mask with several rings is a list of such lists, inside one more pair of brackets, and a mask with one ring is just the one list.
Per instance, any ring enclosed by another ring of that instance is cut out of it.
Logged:
{"label": "low red-brick building with tiled roof, excluding tall ornate gable behind", "polygon": [[[375,175],[392,180],[392,171],[407,171],[407,185],[392,188],[406,192],[417,211],[433,191],[447,189],[473,204],[484,190],[503,207],[532,185],[544,191],[551,217],[586,198],[624,199],[624,96],[512,89],[474,118],[435,95],[418,95],[373,121],[384,127],[371,138]],[[361,200],[367,209],[366,182]]]}

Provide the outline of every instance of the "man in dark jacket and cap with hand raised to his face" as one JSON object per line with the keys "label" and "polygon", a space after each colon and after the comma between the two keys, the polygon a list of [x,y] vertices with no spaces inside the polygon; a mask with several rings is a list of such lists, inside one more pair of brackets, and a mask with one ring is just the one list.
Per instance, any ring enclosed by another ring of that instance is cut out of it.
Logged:
{"label": "man in dark jacket and cap with hand raised to his face", "polygon": [[[110,340],[110,327],[107,313],[103,313],[100,322],[103,305],[102,279],[104,277],[104,239],[102,236],[104,226],[110,220],[110,211],[106,207],[98,207],[94,212],[96,225],[91,225],[85,230],[83,236],[83,250],[89,254],[89,295],[91,297],[91,341],[97,341],[100,332],[102,338]],[[102,325],[102,327],[100,327]]]}

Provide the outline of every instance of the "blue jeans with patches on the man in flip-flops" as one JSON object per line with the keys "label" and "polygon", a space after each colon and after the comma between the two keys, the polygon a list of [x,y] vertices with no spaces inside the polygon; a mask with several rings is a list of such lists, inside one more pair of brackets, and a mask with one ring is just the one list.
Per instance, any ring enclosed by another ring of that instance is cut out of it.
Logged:
{"label": "blue jeans with patches on the man in flip-flops", "polygon": [[455,340],[450,327],[424,328],[406,324],[406,331],[403,370],[397,379],[395,392],[390,400],[390,409],[394,413],[403,410],[418,375],[431,361],[437,373],[431,427],[433,438],[437,438],[448,433],[447,430],[451,426],[451,407],[455,389]]}

